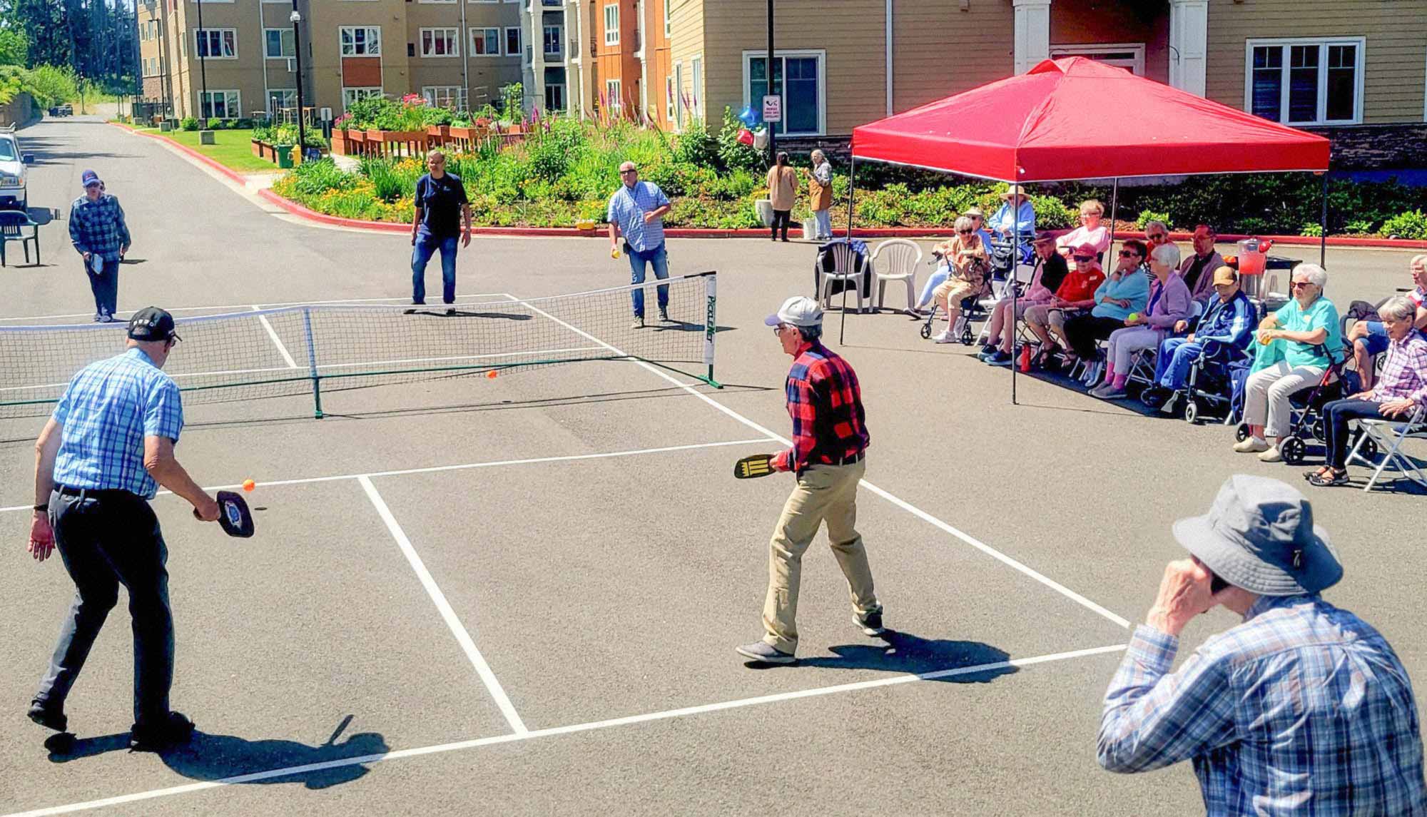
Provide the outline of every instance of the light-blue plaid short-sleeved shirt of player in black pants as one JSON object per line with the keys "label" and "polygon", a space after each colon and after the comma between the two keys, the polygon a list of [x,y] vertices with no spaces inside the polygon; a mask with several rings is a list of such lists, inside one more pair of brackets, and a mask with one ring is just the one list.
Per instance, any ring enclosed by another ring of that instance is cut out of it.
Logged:
{"label": "light-blue plaid short-sleeved shirt of player in black pants", "polygon": [[81,369],[53,417],[64,428],[54,460],[56,484],[121,488],[151,498],[158,486],[144,470],[144,437],[177,443],[183,399],[173,379],[143,350],[130,349]]}

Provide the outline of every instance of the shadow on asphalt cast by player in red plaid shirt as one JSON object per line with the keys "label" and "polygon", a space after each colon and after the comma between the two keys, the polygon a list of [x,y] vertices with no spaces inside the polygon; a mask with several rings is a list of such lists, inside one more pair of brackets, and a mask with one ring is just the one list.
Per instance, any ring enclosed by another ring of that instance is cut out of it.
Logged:
{"label": "shadow on asphalt cast by player in red plaid shirt", "polygon": [[829,647],[835,657],[811,656],[799,658],[798,664],[930,676],[926,680],[952,684],[983,684],[1016,671],[1015,666],[1006,663],[1010,654],[980,641],[922,638],[896,630],[888,630],[879,638],[880,644]]}

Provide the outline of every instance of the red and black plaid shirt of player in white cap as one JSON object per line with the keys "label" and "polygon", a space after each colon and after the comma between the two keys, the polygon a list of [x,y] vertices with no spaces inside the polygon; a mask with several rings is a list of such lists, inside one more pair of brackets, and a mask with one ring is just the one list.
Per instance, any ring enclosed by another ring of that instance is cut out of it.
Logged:
{"label": "red and black plaid shirt of player in white cap", "polygon": [[793,447],[773,458],[781,471],[838,464],[868,447],[862,389],[848,361],[813,341],[788,371],[788,416]]}

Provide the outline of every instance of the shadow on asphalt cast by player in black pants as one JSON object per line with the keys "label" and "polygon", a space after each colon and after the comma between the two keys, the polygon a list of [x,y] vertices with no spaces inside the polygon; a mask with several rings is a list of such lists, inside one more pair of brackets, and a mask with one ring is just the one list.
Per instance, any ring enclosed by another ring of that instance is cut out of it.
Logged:
{"label": "shadow on asphalt cast by player in black pants", "polygon": [[[187,744],[160,751],[158,757],[168,768],[191,780],[301,783],[307,788],[330,788],[360,780],[370,771],[368,763],[380,760],[390,751],[385,737],[371,731],[337,741],[337,736],[350,721],[351,716],[321,746],[295,740],[247,740],[231,734],[194,731]],[[78,738],[68,744],[54,736],[46,741],[46,747],[50,750],[50,763],[70,763],[127,750],[128,733]],[[284,770],[290,771],[271,773]]]}

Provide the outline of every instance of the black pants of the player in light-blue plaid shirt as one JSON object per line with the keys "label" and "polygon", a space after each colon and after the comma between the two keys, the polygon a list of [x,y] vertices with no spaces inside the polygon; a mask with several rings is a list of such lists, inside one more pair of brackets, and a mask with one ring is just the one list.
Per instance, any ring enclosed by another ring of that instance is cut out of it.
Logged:
{"label": "black pants of the player in light-blue plaid shirt", "polygon": [[174,623],[164,567],[168,547],[158,517],[128,491],[70,496],[56,490],[50,494],[50,524],[74,580],[74,604],[36,700],[63,711],[123,584],[134,630],[134,723],[163,723],[174,677]]}

